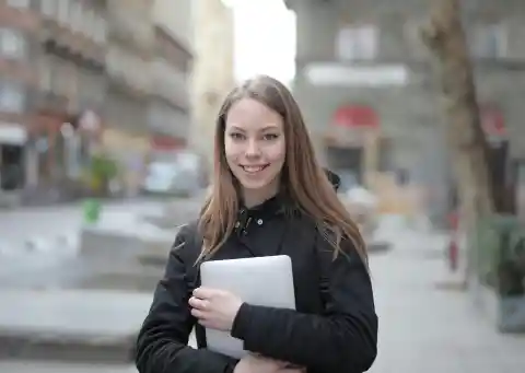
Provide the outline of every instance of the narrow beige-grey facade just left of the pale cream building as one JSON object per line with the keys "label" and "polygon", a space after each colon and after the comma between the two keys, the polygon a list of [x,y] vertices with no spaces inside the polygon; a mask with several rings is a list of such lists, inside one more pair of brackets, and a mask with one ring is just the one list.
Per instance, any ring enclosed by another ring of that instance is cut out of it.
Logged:
{"label": "narrow beige-grey facade just left of the pale cream building", "polygon": [[153,23],[155,54],[149,103],[150,160],[174,160],[188,144],[191,105],[189,100],[194,51],[191,2],[155,1]]}

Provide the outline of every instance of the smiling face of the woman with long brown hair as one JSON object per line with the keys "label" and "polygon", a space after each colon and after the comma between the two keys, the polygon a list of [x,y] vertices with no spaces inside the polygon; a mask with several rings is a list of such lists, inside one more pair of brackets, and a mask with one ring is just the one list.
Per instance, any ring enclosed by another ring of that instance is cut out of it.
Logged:
{"label": "smiling face of the woman with long brown hair", "polygon": [[252,98],[232,105],[226,116],[224,150],[228,165],[246,194],[271,197],[284,164],[283,121],[279,114]]}

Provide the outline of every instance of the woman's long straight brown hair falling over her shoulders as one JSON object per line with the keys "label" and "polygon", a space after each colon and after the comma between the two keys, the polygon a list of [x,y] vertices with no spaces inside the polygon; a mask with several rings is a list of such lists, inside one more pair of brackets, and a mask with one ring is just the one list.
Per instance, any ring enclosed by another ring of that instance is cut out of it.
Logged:
{"label": "woman's long straight brown hair falling over her shoulders", "polygon": [[336,190],[317,164],[303,116],[290,91],[279,81],[258,75],[235,88],[224,100],[215,123],[212,189],[200,212],[199,231],[203,236],[199,260],[212,256],[233,232],[240,208],[237,189],[224,154],[226,116],[234,103],[253,98],[278,113],[283,119],[285,160],[281,175],[289,197],[301,211],[314,219],[319,231],[341,253],[341,238],[349,238],[368,264],[365,244]]}

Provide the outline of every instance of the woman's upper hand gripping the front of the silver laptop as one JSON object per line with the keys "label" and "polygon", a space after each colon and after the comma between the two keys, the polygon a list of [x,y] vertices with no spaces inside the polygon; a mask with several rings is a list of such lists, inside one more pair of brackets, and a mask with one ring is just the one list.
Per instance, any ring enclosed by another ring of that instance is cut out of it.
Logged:
{"label": "woman's upper hand gripping the front of the silver laptop", "polygon": [[198,288],[189,299],[191,315],[206,328],[230,331],[243,301],[223,290]]}

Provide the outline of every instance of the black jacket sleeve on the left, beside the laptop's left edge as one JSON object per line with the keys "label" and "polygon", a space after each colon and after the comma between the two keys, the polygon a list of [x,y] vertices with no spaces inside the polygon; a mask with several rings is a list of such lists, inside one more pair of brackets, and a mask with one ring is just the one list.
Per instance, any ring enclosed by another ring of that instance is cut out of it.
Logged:
{"label": "black jacket sleeve on the left, beside the laptop's left edge", "polygon": [[186,266],[180,250],[191,245],[191,232],[183,228],[170,253],[163,279],[159,282],[148,316],[137,339],[136,364],[140,373],[231,373],[236,360],[206,350],[194,349],[188,339],[195,318],[188,299]]}

